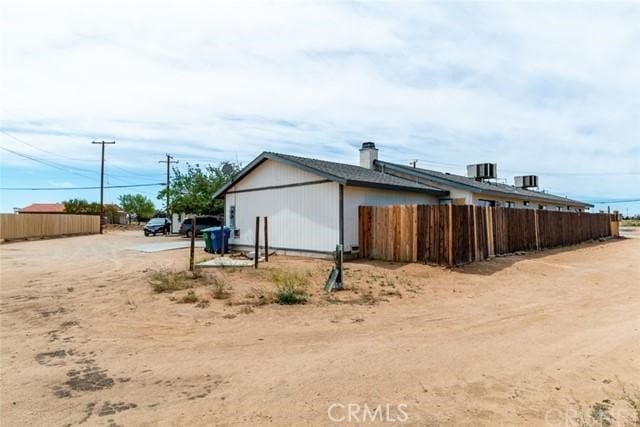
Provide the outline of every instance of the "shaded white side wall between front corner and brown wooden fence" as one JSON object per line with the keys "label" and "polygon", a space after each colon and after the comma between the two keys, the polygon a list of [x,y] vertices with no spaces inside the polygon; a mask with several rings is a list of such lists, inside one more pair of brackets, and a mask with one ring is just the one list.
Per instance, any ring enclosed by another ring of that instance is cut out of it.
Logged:
{"label": "shaded white side wall between front corner and brown wooden fence", "polygon": [[380,190],[377,188],[344,188],[344,250],[359,246],[358,206],[385,206],[404,204],[437,205],[438,198],[424,193]]}

